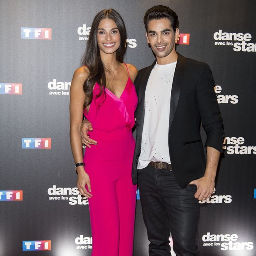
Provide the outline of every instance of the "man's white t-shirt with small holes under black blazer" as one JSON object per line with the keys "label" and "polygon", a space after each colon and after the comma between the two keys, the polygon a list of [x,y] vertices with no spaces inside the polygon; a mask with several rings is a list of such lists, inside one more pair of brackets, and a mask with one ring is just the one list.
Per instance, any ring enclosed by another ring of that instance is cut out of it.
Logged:
{"label": "man's white t-shirt with small holes under black blazer", "polygon": [[177,62],[155,64],[145,91],[145,116],[138,169],[149,162],[170,163],[168,133],[171,90]]}

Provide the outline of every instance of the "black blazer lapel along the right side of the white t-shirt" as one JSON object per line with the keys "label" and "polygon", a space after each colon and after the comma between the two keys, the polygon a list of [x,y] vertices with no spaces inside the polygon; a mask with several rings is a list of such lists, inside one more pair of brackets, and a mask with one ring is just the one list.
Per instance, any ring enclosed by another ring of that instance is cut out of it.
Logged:
{"label": "black blazer lapel along the right side of the white t-shirt", "polygon": [[180,92],[181,92],[181,85],[183,82],[185,71],[185,58],[181,54],[178,53],[177,64],[173,76],[173,85],[172,85],[172,93],[171,93],[171,105],[170,105],[170,116],[169,116],[169,130],[173,122],[173,117],[175,115]]}

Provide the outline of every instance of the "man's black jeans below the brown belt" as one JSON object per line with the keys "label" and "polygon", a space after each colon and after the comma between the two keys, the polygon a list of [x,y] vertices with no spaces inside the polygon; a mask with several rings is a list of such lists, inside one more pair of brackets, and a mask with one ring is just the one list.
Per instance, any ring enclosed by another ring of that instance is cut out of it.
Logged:
{"label": "man's black jeans below the brown belt", "polygon": [[181,188],[171,170],[147,166],[138,170],[143,219],[150,256],[170,256],[172,234],[176,256],[199,256],[196,245],[198,200],[196,185]]}

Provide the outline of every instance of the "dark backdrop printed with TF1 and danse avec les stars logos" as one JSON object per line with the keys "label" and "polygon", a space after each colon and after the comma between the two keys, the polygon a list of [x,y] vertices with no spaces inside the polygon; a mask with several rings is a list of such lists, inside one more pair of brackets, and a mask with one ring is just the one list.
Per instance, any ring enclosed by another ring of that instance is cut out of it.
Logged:
{"label": "dark backdrop printed with TF1 and danse avec les stars logos", "polygon": [[[126,23],[125,62],[150,65],[143,15],[156,4],[179,16],[177,51],[211,66],[225,124],[215,191],[199,202],[201,255],[256,256],[253,0],[0,1],[0,256],[91,254],[88,200],[77,191],[69,144],[72,75],[104,8]],[[139,191],[135,222],[134,256],[147,256]],[[111,235],[102,239],[111,250]]]}

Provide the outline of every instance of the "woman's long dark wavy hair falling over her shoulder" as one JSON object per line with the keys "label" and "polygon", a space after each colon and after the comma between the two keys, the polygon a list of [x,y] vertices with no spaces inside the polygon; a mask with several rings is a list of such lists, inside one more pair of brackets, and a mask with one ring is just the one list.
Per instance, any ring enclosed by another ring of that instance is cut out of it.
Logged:
{"label": "woman's long dark wavy hair falling over her shoulder", "polygon": [[124,54],[126,52],[126,29],[124,21],[120,14],[113,9],[105,9],[96,14],[91,25],[90,35],[87,41],[86,51],[82,58],[82,65],[87,66],[89,69],[89,76],[83,84],[83,91],[86,94],[84,106],[90,105],[92,101],[92,92],[94,84],[97,82],[101,87],[100,96],[103,92],[103,87],[106,86],[106,68],[102,63],[100,50],[97,42],[98,26],[102,19],[113,19],[117,24],[117,28],[120,33],[120,47],[117,49],[117,61],[124,62]]}

